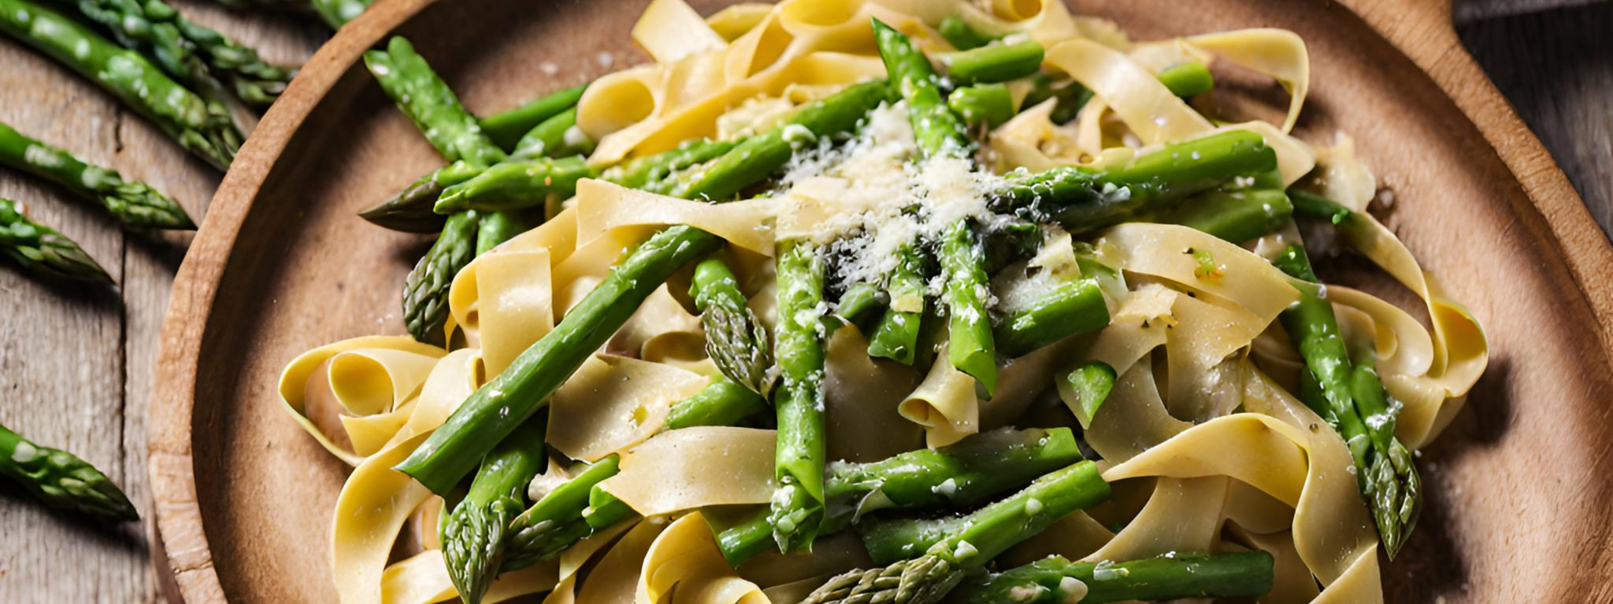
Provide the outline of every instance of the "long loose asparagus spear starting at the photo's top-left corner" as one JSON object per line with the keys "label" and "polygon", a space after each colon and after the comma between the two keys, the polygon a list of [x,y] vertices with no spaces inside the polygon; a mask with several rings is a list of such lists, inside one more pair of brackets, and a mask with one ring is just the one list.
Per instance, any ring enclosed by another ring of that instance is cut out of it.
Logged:
{"label": "long loose asparagus spear starting at the photo's top-left corner", "polygon": [[229,114],[210,111],[140,53],[29,0],[0,0],[0,32],[95,81],[215,168],[229,168],[235,156],[242,135]]}

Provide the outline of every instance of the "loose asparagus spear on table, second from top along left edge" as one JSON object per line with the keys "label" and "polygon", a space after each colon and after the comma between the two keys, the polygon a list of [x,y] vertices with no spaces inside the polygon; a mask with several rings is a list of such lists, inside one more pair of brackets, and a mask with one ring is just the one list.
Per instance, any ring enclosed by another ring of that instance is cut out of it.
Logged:
{"label": "loose asparagus spear on table, second from top along left edge", "polygon": [[0,124],[0,163],[52,180],[74,195],[106,208],[135,229],[195,229],[185,209],[144,182],[124,180],[116,171],[85,164],[71,153],[29,139]]}

